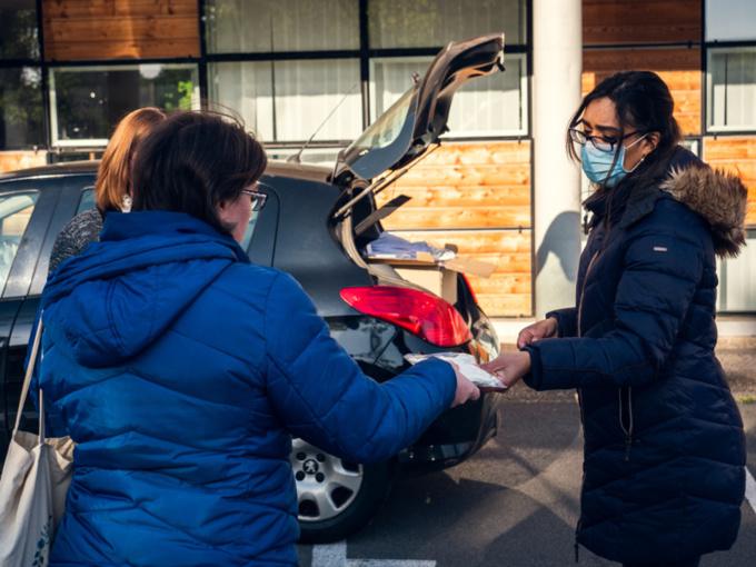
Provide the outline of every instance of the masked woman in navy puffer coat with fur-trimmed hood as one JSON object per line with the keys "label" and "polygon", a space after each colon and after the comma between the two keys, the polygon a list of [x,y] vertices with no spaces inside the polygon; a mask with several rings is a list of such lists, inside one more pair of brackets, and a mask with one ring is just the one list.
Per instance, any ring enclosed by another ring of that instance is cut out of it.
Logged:
{"label": "masked woman in navy puffer coat with fur-trimmed hood", "polygon": [[696,566],[732,547],[745,493],[743,421],[714,348],[715,256],[745,242],[746,189],[678,147],[655,73],[609,77],[570,126],[596,185],[576,306],[524,329],[521,351],[488,369],[537,390],[577,388],[576,553]]}

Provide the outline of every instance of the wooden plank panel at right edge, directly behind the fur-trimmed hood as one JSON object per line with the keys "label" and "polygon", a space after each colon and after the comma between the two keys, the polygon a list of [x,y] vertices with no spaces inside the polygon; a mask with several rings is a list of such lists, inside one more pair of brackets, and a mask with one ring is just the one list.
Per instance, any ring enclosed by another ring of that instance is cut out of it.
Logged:
{"label": "wooden plank panel at right edge, directly behind the fur-trimmed hood", "polygon": [[704,138],[704,160],[743,179],[748,188],[746,226],[756,228],[756,137]]}

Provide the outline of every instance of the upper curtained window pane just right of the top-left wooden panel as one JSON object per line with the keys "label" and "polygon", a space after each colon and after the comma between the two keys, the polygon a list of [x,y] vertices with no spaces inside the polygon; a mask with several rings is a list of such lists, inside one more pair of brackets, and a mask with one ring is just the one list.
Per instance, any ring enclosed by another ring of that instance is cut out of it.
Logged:
{"label": "upper curtained window pane just right of the top-left wooden panel", "polygon": [[356,0],[208,0],[208,53],[359,49]]}

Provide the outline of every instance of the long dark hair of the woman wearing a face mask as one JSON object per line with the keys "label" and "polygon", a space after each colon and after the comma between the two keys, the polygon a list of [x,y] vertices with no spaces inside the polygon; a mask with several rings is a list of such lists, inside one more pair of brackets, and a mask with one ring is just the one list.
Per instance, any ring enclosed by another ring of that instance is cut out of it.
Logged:
{"label": "long dark hair of the woman wearing a face mask", "polygon": [[[659,135],[656,149],[611,190],[608,197],[611,201],[616,195],[627,196],[636,187],[645,187],[666,177],[669,159],[683,135],[673,115],[675,102],[669,88],[655,72],[621,71],[607,77],[583,99],[569,121],[569,128],[575,128],[579,123],[588,105],[601,98],[611,100],[617,109],[620,137],[634,130],[640,133],[658,132]],[[567,132],[566,140],[568,155],[579,162],[580,158],[569,132]],[[615,150],[615,162],[621,143],[620,141]],[[608,210],[611,210],[610,207]]]}

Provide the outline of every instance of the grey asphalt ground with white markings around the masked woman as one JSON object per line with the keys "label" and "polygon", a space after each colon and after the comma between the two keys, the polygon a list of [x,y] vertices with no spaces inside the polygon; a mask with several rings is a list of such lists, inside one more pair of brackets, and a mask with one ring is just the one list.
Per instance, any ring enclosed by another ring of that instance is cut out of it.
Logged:
{"label": "grey asphalt ground with white markings around the masked woman", "polygon": [[[756,348],[719,352],[734,375],[756,475]],[[300,546],[308,567],[571,566],[583,437],[571,392],[508,392],[499,435],[474,458],[442,472],[401,477],[375,520],[348,541]],[[743,505],[738,540],[703,567],[756,566],[756,485]],[[618,564],[580,548],[579,566]]]}

